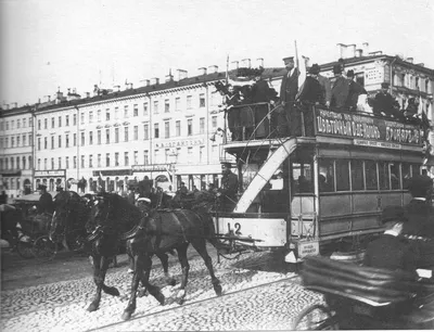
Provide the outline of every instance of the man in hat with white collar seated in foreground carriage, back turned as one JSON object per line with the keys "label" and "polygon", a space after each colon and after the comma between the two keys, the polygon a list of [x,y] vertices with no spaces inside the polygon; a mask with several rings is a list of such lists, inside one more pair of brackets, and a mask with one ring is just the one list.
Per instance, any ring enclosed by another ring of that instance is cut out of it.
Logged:
{"label": "man in hat with white collar seated in foreground carriage, back turned", "polygon": [[363,265],[388,270],[404,270],[416,273],[416,253],[399,235],[407,222],[401,206],[384,208],[381,221],[385,227],[384,233],[368,244]]}

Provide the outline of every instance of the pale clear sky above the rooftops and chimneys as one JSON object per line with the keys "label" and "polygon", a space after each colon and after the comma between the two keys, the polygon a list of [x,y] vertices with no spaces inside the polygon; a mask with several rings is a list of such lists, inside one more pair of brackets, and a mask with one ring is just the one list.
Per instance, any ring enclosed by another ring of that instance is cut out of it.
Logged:
{"label": "pale clear sky above the rooftops and chimneys", "polygon": [[0,0],[0,101],[81,95],[169,69],[298,54],[337,60],[336,43],[413,58],[434,68],[432,0]]}

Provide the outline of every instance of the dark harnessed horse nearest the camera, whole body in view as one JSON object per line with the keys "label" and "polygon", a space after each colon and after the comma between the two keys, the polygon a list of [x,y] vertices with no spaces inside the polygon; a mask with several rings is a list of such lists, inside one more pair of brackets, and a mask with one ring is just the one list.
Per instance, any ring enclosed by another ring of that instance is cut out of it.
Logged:
{"label": "dark harnessed horse nearest the camera, whole body in view", "polygon": [[[213,261],[206,251],[206,240],[218,247],[215,240],[214,225],[209,217],[200,215],[189,209],[165,209],[153,210],[150,215],[141,218],[140,225],[133,228],[135,215],[138,215],[136,206],[120,199],[117,194],[104,194],[97,204],[98,212],[94,216],[95,224],[101,232],[130,230],[123,238],[131,239],[131,250],[135,256],[135,273],[131,282],[131,296],[127,308],[123,314],[123,319],[127,320],[136,310],[137,289],[141,281],[162,305],[165,297],[159,288],[150,283],[149,277],[152,267],[152,256],[176,250],[182,268],[182,281],[178,293],[177,302],[182,304],[186,297],[186,286],[188,282],[190,265],[187,258],[187,248],[190,243],[204,259],[207,267],[214,291],[221,295],[220,281],[214,274]],[[129,217],[125,213],[129,210]],[[124,217],[123,217],[124,216]],[[132,218],[132,219],[131,219]]]}

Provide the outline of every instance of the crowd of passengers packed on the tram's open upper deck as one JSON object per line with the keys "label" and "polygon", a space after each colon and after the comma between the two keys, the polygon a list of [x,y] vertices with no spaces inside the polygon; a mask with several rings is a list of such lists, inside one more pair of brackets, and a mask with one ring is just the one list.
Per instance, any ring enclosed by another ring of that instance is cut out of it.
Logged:
{"label": "crowd of passengers packed on the tram's open upper deck", "polygon": [[[418,115],[419,100],[411,98],[401,108],[383,82],[374,98],[355,80],[354,71],[345,72],[340,60],[333,66],[332,79],[320,75],[320,66],[307,68],[304,84],[298,87],[301,75],[293,56],[283,59],[286,74],[282,77],[280,95],[264,79],[260,69],[254,71],[254,84],[244,86],[216,84],[224,95],[224,110],[232,141],[269,137],[296,137],[314,135],[314,115],[309,105],[316,104],[334,112],[366,112],[408,124],[429,127],[427,118]],[[261,68],[263,69],[263,68]],[[365,101],[360,97],[363,97]]]}

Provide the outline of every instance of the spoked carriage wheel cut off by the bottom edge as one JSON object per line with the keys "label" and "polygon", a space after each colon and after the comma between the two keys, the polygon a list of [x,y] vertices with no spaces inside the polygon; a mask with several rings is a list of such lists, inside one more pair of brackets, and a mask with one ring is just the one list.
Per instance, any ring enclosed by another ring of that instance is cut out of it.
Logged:
{"label": "spoked carriage wheel cut off by the bottom edge", "polygon": [[312,305],[305,308],[294,319],[292,330],[337,330],[332,312],[323,305]]}

